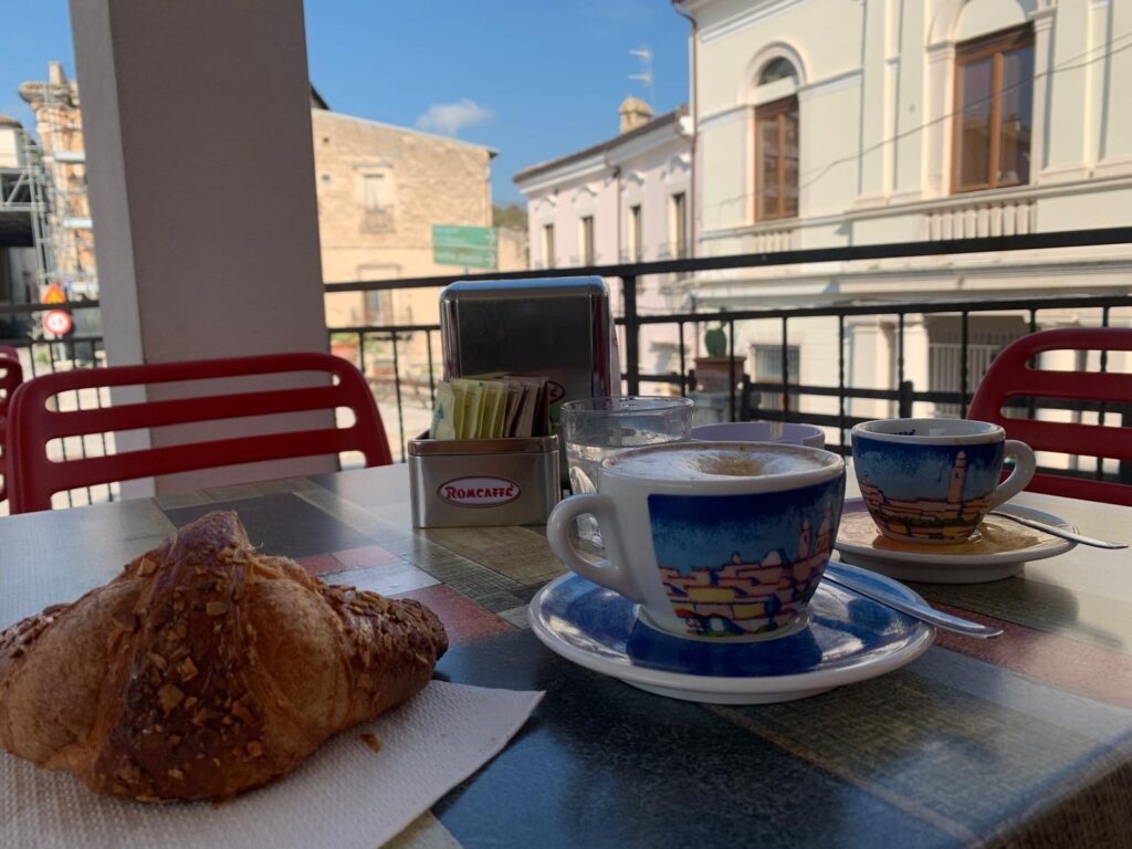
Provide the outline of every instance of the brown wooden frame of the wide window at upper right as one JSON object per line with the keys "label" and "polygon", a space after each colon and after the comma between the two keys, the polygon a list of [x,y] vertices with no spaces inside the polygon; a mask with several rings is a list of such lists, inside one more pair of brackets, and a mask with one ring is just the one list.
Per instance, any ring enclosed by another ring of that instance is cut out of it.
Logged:
{"label": "brown wooden frame of the wide window at upper right", "polygon": [[[1004,181],[997,177],[998,157],[1002,154],[1002,66],[1003,55],[1012,53],[1023,48],[1034,48],[1034,27],[1030,24],[1003,29],[980,38],[975,38],[955,48],[955,76],[953,79],[952,115],[954,127],[951,134],[951,194],[966,195],[971,191],[986,191],[988,189],[1005,189],[1013,186],[1028,186],[1030,175],[1026,182],[1021,180]],[[959,185],[959,170],[961,168],[960,153],[962,151],[962,103],[960,103],[960,76],[963,68],[971,62],[990,58],[990,149],[988,152],[989,173],[987,181],[970,186]],[[1031,88],[1032,95],[1032,88]],[[1031,127],[1032,130],[1032,127]],[[1032,166],[1032,163],[1031,163]]]}

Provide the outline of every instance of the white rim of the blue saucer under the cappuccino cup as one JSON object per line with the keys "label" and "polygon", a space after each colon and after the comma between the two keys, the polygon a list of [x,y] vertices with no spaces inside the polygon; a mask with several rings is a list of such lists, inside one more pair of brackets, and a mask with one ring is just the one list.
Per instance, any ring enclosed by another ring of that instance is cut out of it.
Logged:
{"label": "white rim of the blue saucer under the cappuccino cup", "polygon": [[[904,586],[899,581],[873,572],[869,573],[869,576],[899,586],[902,592],[909,593],[918,601],[924,601],[919,593],[908,586]],[[554,590],[560,584],[573,580],[584,581],[594,588],[601,589],[599,584],[594,584],[592,581],[588,581],[573,572],[559,575],[540,589],[539,592],[535,593],[534,598],[531,599],[528,607],[531,631],[534,633],[535,637],[543,643],[543,645],[550,649],[550,651],[571,661],[572,663],[576,663],[580,667],[601,675],[607,675],[611,678],[617,678],[618,680],[634,686],[643,684],[645,687],[652,686],[667,688],[688,694],[698,694],[701,696],[797,695],[798,697],[801,697],[813,691],[826,692],[833,689],[834,687],[841,687],[847,684],[856,684],[858,681],[868,680],[869,678],[876,678],[881,675],[886,675],[916,660],[916,658],[926,652],[935,643],[935,627],[928,625],[927,623],[916,621],[916,631],[918,633],[903,649],[882,658],[859,660],[858,662],[849,666],[842,666],[837,669],[814,669],[808,672],[783,676],[746,677],[666,672],[660,669],[649,669],[648,667],[637,666],[631,658],[628,658],[628,655],[624,655],[625,659],[621,661],[614,661],[595,655],[583,649],[571,645],[569,643],[563,642],[558,638],[557,634],[543,625],[539,616],[543,599],[554,592]],[[818,584],[817,592],[822,592],[823,589],[829,592],[829,589],[823,588],[822,584]],[[875,603],[880,604],[880,602]],[[748,645],[748,643],[737,643],[736,645]],[[816,692],[813,694],[816,695]]]}

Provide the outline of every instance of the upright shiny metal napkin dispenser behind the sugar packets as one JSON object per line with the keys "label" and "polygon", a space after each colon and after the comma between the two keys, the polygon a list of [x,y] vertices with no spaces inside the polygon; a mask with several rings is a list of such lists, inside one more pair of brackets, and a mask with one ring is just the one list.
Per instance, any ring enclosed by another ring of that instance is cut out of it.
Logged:
{"label": "upright shiny metal napkin dispenser behind the sugar packets", "polygon": [[440,294],[444,376],[530,375],[558,403],[619,395],[620,362],[600,277],[458,282]]}

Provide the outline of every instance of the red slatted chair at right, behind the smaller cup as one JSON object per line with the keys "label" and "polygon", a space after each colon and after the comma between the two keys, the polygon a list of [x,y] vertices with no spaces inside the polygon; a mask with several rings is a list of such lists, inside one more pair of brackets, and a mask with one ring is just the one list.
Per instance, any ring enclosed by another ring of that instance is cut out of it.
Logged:
{"label": "red slatted chair at right, behind the smaller cup", "polygon": [[[1003,415],[1011,398],[1060,398],[1132,404],[1132,375],[1100,371],[1048,371],[1028,361],[1045,351],[1132,351],[1132,329],[1117,327],[1041,331],[1011,343],[990,363],[967,418],[993,421],[1011,439],[1035,451],[1132,461],[1132,431],[1101,424],[1078,424]],[[1132,487],[1112,481],[1035,474],[1031,492],[1132,506]]]}

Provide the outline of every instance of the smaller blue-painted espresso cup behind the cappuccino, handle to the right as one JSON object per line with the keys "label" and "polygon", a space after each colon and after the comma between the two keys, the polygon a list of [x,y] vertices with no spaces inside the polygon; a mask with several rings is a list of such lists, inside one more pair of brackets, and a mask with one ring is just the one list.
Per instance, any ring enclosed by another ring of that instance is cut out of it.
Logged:
{"label": "smaller blue-painted espresso cup behind the cappuccino, handle to the right", "polygon": [[[1002,481],[1005,457],[1014,471]],[[963,542],[987,512],[1034,477],[1034,452],[998,424],[969,419],[880,419],[852,429],[860,494],[877,530],[906,542]]]}

